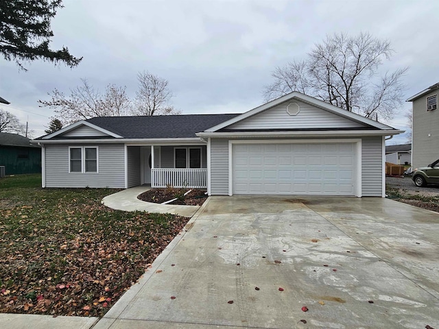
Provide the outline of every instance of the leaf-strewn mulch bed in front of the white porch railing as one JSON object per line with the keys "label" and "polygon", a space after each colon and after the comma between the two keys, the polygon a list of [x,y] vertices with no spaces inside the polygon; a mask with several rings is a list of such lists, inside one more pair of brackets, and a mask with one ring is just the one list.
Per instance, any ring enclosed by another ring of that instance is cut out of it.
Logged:
{"label": "leaf-strewn mulch bed in front of the white porch railing", "polygon": [[[192,190],[184,196],[185,192]],[[198,188],[152,188],[139,195],[137,198],[145,202],[162,204],[171,199],[178,199],[171,204],[181,204],[186,206],[201,206],[207,199],[206,190]]]}

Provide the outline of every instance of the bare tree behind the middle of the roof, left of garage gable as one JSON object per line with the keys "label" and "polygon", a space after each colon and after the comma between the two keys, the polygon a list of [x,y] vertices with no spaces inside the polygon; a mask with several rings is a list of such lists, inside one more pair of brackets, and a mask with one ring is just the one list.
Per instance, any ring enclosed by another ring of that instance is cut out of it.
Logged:
{"label": "bare tree behind the middle of the roof, left of garage gable", "polygon": [[180,114],[169,105],[173,97],[169,90],[169,82],[147,71],[137,74],[139,90],[136,92],[133,112],[136,115],[169,115]]}

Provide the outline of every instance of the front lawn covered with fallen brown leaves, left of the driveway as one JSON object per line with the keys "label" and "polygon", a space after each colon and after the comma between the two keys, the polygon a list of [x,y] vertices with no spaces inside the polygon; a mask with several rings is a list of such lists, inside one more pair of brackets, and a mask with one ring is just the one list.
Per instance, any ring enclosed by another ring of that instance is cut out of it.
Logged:
{"label": "front lawn covered with fallen brown leaves, left of the driveway", "polygon": [[102,316],[188,218],[106,208],[112,189],[0,179],[0,313]]}

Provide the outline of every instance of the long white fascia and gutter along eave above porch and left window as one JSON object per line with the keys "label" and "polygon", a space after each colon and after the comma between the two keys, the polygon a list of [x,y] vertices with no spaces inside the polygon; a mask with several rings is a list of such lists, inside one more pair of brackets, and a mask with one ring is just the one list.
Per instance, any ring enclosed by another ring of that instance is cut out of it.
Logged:
{"label": "long white fascia and gutter along eave above porch and left window", "polygon": [[154,139],[144,139],[144,138],[81,138],[81,139],[48,139],[41,140],[37,139],[31,141],[31,143],[41,143],[41,144],[114,144],[123,143],[129,146],[140,146],[140,145],[206,145],[206,141],[202,141],[198,137],[193,138],[154,138]]}

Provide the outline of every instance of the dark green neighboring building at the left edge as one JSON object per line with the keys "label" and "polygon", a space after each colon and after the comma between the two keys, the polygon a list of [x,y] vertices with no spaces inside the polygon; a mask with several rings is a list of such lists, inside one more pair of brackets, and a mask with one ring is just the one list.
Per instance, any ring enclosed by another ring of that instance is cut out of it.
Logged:
{"label": "dark green neighboring building at the left edge", "polygon": [[19,134],[0,132],[0,166],[6,175],[41,172],[41,148]]}

